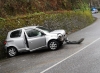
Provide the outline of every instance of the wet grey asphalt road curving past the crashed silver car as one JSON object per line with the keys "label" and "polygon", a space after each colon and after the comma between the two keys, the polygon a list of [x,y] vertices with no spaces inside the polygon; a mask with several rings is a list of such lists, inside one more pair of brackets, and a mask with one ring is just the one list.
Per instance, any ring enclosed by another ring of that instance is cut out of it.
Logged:
{"label": "wet grey asphalt road curving past the crashed silver car", "polygon": [[100,14],[92,25],[70,34],[69,40],[85,38],[81,44],[64,44],[59,50],[37,50],[0,61],[0,73],[100,73]]}

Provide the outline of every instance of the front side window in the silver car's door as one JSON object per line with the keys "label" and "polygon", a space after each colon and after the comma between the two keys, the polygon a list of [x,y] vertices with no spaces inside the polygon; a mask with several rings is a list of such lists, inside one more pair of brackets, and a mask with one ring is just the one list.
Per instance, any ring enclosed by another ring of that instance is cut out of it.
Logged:
{"label": "front side window in the silver car's door", "polygon": [[35,29],[27,29],[26,33],[27,33],[28,37],[42,36],[42,33],[38,30],[35,30]]}

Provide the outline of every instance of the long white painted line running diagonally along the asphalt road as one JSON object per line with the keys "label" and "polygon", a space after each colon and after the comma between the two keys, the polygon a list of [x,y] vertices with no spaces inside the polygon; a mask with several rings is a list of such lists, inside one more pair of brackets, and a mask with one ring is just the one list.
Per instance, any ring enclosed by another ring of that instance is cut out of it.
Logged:
{"label": "long white painted line running diagonally along the asphalt road", "polygon": [[64,62],[65,60],[67,60],[67,59],[71,58],[72,56],[76,55],[77,53],[79,53],[79,52],[81,52],[82,50],[86,49],[87,47],[91,46],[92,44],[94,44],[94,43],[95,43],[95,42],[97,42],[98,40],[100,40],[100,38],[98,38],[98,39],[94,40],[92,43],[90,43],[90,44],[88,44],[87,46],[83,47],[83,48],[82,48],[82,49],[80,49],[79,51],[77,51],[77,52],[75,52],[74,54],[72,54],[72,55],[70,55],[70,56],[66,57],[65,59],[63,59],[63,60],[59,61],[58,63],[56,63],[56,64],[52,65],[51,67],[49,67],[49,68],[47,68],[47,69],[43,70],[43,71],[42,71],[42,72],[40,72],[40,73],[45,73],[46,71],[48,71],[48,70],[52,69],[53,67],[57,66],[58,64],[60,64],[60,63]]}

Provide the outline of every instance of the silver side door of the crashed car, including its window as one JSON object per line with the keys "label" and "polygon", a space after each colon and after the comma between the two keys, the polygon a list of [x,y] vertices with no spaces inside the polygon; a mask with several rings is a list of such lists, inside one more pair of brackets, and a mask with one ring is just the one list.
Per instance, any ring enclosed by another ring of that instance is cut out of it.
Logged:
{"label": "silver side door of the crashed car, including its window", "polygon": [[46,46],[45,34],[36,29],[26,29],[25,31],[28,36],[27,41],[30,50],[35,50]]}

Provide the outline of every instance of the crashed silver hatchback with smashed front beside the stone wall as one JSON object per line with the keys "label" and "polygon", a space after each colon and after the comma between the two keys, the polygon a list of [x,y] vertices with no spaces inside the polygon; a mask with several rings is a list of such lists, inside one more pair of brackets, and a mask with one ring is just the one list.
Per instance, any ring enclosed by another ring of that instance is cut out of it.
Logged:
{"label": "crashed silver hatchback with smashed front beside the stone wall", "polygon": [[34,51],[43,47],[56,50],[66,39],[63,29],[49,30],[42,26],[29,26],[9,31],[5,49],[10,57],[19,52]]}

